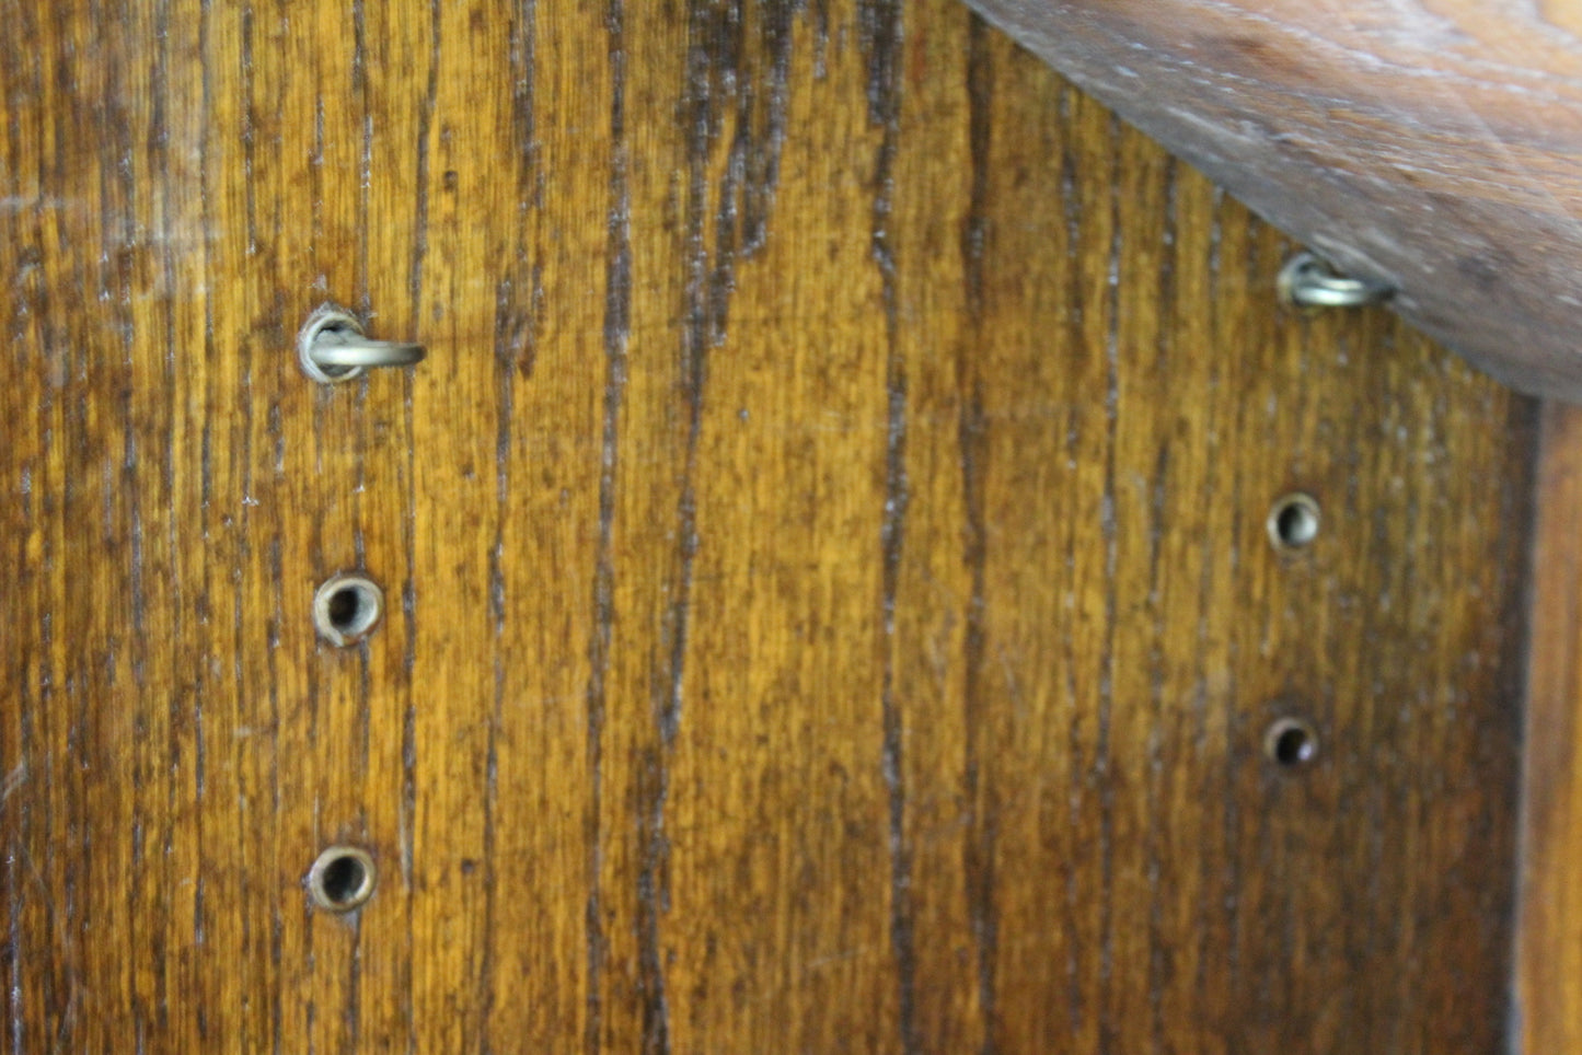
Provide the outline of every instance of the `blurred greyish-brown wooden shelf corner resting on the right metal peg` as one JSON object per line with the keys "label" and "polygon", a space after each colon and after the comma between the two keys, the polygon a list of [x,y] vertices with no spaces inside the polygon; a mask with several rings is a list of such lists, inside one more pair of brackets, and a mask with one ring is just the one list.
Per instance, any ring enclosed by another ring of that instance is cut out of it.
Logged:
{"label": "blurred greyish-brown wooden shelf corner resting on the right metal peg", "polygon": [[1582,6],[971,2],[1429,334],[1582,400]]}

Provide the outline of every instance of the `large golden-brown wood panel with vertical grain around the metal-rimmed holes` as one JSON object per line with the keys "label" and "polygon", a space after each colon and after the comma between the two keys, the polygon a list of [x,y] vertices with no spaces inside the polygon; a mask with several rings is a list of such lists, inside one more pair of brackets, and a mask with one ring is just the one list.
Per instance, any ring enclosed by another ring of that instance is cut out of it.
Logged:
{"label": "large golden-brown wood panel with vertical grain around the metal-rimmed holes", "polygon": [[1497,1050],[1528,405],[965,9],[0,14],[6,1050]]}

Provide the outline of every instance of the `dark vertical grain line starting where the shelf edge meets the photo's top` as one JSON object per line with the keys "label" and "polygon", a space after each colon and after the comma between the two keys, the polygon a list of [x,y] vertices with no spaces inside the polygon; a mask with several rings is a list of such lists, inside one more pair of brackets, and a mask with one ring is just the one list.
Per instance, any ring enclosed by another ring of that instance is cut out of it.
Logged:
{"label": "dark vertical grain line starting where the shelf edge meets the photo's top", "polygon": [[971,576],[971,598],[967,603],[967,641],[962,669],[962,739],[965,754],[963,796],[967,826],[962,857],[967,876],[967,905],[973,930],[973,955],[978,974],[978,1003],[982,1009],[982,1041],[979,1052],[1000,1050],[995,1011],[995,955],[1000,919],[995,908],[995,841],[998,838],[998,807],[987,780],[982,734],[992,728],[990,698],[984,685],[986,576],[989,562],[987,512],[984,509],[982,471],[989,460],[989,418],[984,413],[982,375],[978,370],[979,345],[984,338],[986,286],[984,255],[990,237],[989,195],[993,146],[993,57],[989,25],[975,13],[967,16],[967,134],[971,152],[971,183],[967,217],[962,220],[962,277],[965,285],[968,326],[967,340],[957,350],[957,448],[962,468],[962,560]]}

